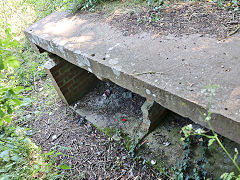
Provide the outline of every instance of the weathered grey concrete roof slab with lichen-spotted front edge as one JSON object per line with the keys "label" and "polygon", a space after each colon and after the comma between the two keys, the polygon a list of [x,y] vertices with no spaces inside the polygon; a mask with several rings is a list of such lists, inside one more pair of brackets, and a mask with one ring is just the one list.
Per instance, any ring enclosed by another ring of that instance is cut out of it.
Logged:
{"label": "weathered grey concrete roof slab with lichen-spotted front edge", "polygon": [[[208,84],[218,84],[214,129],[240,143],[240,35],[224,41],[142,32],[123,36],[94,14],[53,13],[25,30],[28,40],[101,79],[136,92],[205,125]],[[145,72],[157,72],[141,74]]]}

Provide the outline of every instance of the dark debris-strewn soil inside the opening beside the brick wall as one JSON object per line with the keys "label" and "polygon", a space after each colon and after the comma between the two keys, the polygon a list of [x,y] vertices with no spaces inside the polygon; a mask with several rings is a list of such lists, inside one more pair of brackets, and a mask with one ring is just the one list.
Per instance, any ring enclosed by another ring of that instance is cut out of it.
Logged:
{"label": "dark debris-strewn soil inside the opening beside the brick wall", "polygon": [[[90,112],[101,114],[104,118],[110,119],[116,113],[122,117],[142,118],[141,106],[145,98],[131,91],[124,89],[111,81],[101,81],[96,87],[77,101],[78,109],[86,109]],[[122,119],[119,119],[122,121]]]}

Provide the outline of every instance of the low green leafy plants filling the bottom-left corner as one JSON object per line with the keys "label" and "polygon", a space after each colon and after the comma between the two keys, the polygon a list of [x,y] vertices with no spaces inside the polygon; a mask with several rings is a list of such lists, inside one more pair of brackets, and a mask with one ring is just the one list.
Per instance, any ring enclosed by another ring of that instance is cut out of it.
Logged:
{"label": "low green leafy plants filling the bottom-left corner", "polygon": [[24,135],[27,129],[0,127],[0,179],[32,179],[56,175],[38,147]]}

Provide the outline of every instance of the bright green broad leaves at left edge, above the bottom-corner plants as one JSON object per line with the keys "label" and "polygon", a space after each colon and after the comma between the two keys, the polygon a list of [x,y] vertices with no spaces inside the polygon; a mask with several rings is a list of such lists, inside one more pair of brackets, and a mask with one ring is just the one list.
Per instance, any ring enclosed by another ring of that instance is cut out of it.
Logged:
{"label": "bright green broad leaves at left edge, above the bottom-corner plants", "polygon": [[[2,26],[4,28],[4,26]],[[0,126],[4,121],[11,122],[11,115],[17,106],[20,106],[22,96],[18,95],[24,88],[15,87],[4,81],[3,77],[11,68],[19,67],[19,61],[16,56],[16,49],[20,46],[14,39],[14,33],[9,27],[5,30],[5,37],[0,39]]]}

